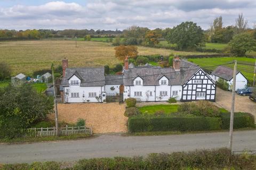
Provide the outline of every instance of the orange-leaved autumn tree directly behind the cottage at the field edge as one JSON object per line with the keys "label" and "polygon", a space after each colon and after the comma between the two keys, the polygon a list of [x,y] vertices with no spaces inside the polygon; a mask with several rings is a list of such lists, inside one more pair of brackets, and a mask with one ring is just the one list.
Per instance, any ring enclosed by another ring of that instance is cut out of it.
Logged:
{"label": "orange-leaved autumn tree directly behind the cottage at the field edge", "polygon": [[115,47],[116,50],[116,57],[118,60],[124,61],[126,56],[129,57],[136,57],[138,55],[138,48],[136,46],[118,46]]}

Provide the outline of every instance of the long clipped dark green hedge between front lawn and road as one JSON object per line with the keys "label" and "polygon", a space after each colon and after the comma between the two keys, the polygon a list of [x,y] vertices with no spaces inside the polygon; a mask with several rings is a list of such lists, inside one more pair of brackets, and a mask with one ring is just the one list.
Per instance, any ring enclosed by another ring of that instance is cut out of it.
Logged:
{"label": "long clipped dark green hedge between front lawn and road", "polygon": [[128,127],[129,132],[204,131],[221,129],[221,121],[217,117],[204,116],[132,116]]}

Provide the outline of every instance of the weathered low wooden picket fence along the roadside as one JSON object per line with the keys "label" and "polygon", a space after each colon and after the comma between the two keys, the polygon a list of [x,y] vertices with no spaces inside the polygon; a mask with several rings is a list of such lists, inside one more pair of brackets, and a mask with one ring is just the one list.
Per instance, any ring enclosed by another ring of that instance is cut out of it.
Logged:
{"label": "weathered low wooden picket fence along the roadside", "polygon": [[[23,135],[24,138],[29,137],[51,137],[56,135],[57,129],[54,128],[30,128],[28,132]],[[66,127],[59,128],[60,135],[73,135],[73,134],[92,134],[91,128],[86,128],[85,126],[77,127]]]}

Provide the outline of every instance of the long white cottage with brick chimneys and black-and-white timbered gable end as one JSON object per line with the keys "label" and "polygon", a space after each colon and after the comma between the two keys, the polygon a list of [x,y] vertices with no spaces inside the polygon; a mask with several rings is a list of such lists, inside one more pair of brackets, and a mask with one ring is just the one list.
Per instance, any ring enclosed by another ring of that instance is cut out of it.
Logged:
{"label": "long white cottage with brick chimneys and black-and-white timbered gable end", "polygon": [[175,57],[173,67],[134,66],[125,59],[123,75],[106,75],[103,68],[68,68],[62,61],[62,100],[65,103],[102,102],[120,93],[121,100],[215,101],[215,82],[199,66]]}

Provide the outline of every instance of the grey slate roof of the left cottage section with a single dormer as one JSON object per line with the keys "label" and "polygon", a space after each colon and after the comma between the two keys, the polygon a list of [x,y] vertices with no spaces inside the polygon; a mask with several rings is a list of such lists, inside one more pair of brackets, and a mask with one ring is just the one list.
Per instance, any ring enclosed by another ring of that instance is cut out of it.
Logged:
{"label": "grey slate roof of the left cottage section with a single dormer", "polygon": [[104,86],[105,73],[104,68],[67,68],[65,77],[62,79],[62,86],[69,86],[68,79],[76,75],[80,80],[80,86]]}

